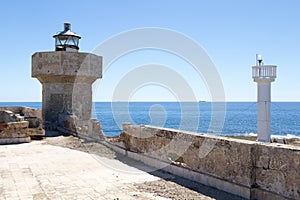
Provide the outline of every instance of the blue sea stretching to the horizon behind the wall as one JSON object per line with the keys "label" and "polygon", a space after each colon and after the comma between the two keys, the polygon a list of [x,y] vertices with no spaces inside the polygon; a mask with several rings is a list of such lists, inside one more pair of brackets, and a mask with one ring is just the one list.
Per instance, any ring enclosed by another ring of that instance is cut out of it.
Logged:
{"label": "blue sea stretching to the horizon behind the wall", "polygon": [[[93,102],[106,136],[121,133],[123,123],[152,125],[226,136],[255,136],[256,102]],[[41,109],[41,102],[0,102],[0,106]],[[271,134],[300,138],[300,102],[271,103]]]}

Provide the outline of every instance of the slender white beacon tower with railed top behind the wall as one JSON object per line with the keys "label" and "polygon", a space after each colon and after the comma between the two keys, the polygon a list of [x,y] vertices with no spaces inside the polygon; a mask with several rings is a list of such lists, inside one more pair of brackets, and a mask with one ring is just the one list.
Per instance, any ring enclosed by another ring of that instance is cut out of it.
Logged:
{"label": "slender white beacon tower with railed top behind the wall", "polygon": [[275,65],[264,65],[261,55],[256,55],[256,66],[252,67],[252,78],[257,82],[257,141],[271,140],[271,82],[275,81]]}

